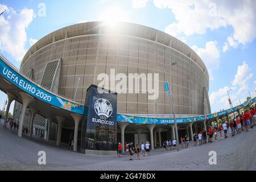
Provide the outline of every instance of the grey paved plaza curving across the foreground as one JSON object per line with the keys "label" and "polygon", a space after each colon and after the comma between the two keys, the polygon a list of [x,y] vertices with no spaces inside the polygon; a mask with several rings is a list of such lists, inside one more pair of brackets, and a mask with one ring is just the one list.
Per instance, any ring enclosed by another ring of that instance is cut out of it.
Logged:
{"label": "grey paved plaza curving across the foreground", "polygon": [[[129,161],[127,155],[85,155],[16,133],[0,125],[0,170],[256,170],[256,127],[251,131],[179,152],[156,148],[150,156]],[[38,152],[46,152],[46,165],[38,164]],[[209,165],[209,151],[217,164]]]}

